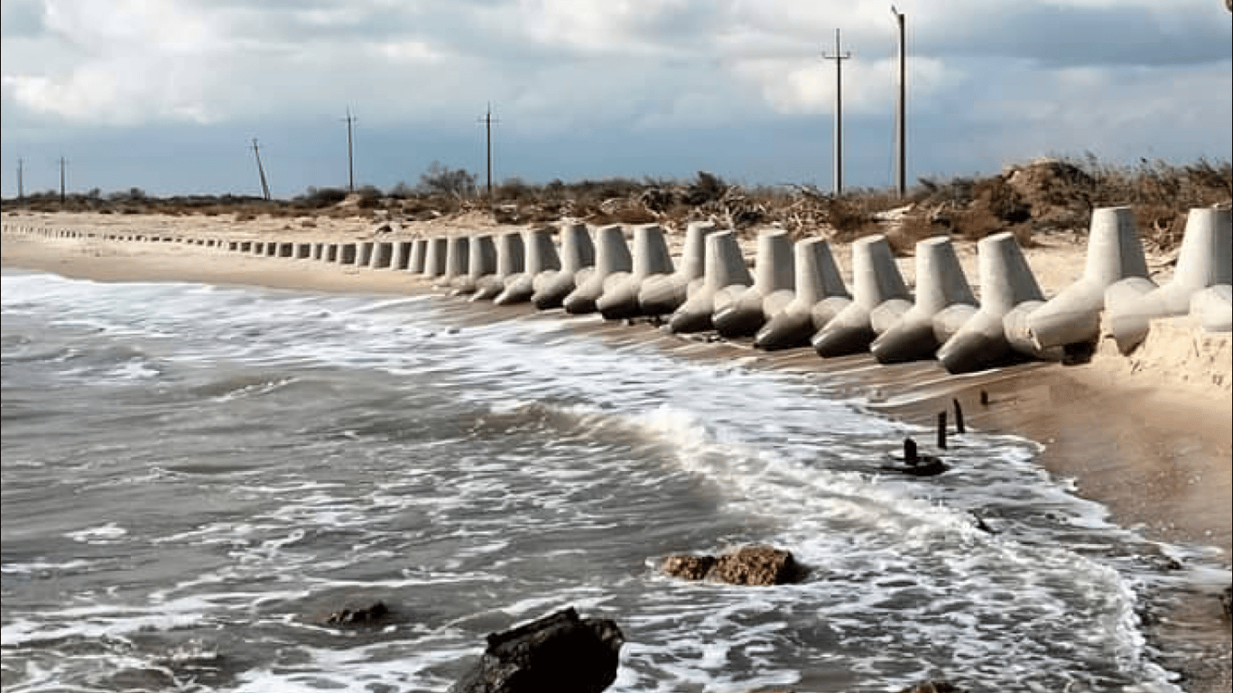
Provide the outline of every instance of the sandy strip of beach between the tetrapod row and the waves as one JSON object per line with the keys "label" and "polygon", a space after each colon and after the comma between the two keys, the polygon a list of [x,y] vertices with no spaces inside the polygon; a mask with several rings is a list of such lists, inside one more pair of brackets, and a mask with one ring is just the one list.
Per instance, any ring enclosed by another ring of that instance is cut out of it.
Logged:
{"label": "sandy strip of beach between the tetrapod row and the waves", "polygon": [[[139,224],[139,218],[117,221],[129,227]],[[223,227],[227,219],[212,223]],[[348,236],[354,238],[358,231],[363,229],[351,228]],[[268,233],[280,232],[271,229]],[[249,236],[242,229],[215,234]],[[261,258],[181,244],[126,244],[7,233],[2,265],[95,281],[195,281],[346,293],[432,292],[420,277],[390,270]],[[460,313],[473,313],[476,321],[534,312],[529,306],[502,308],[456,302]],[[544,319],[551,318],[551,313],[544,313]],[[1042,444],[1037,456],[1039,464],[1054,478],[1071,480],[1075,494],[1106,507],[1110,522],[1152,541],[1211,546],[1215,554],[1208,560],[1226,570],[1229,566],[1233,555],[1233,503],[1229,501],[1233,400],[1227,388],[1221,391],[1161,380],[1157,377],[1159,374],[1134,372],[1136,366],[1127,359],[1104,353],[1084,365],[1026,364],[951,376],[933,361],[880,366],[868,354],[824,360],[808,348],[763,353],[740,342],[704,343],[671,335],[645,323],[626,326],[597,319],[580,329],[604,339],[652,343],[686,358],[739,358],[752,367],[835,376],[851,383],[851,395],[862,406],[921,425],[932,425],[936,413],[948,411],[952,400],[958,400],[972,428]],[[979,403],[981,391],[988,392],[989,406]],[[1092,425],[1092,417],[1100,417],[1100,425]],[[1233,650],[1229,625],[1219,613],[1217,596],[1221,588],[1223,586],[1196,586],[1194,597],[1170,610],[1160,624],[1144,626],[1165,655],[1176,646],[1197,642],[1212,652],[1212,657],[1218,657],[1215,662],[1194,662],[1194,666],[1164,657],[1171,668],[1186,677],[1182,686],[1187,691],[1229,689],[1229,652]]]}

